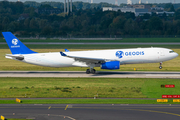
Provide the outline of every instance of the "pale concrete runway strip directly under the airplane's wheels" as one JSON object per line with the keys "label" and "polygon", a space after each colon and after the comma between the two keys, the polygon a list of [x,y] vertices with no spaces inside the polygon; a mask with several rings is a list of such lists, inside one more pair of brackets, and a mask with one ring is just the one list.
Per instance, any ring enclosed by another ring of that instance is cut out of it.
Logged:
{"label": "pale concrete runway strip directly under the airplane's wheels", "polygon": [[180,78],[180,72],[97,71],[96,74],[86,74],[85,71],[0,71],[0,77]]}

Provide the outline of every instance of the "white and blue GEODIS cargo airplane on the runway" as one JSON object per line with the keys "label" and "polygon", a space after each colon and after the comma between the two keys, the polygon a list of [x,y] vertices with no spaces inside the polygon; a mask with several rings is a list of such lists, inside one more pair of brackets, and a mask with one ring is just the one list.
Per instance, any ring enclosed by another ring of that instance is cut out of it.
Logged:
{"label": "white and blue GEODIS cargo airplane on the runway", "polygon": [[89,67],[86,73],[95,74],[94,67],[116,70],[124,64],[160,63],[174,59],[176,52],[167,48],[130,48],[91,51],[69,51],[37,53],[26,47],[11,32],[2,32],[12,54],[6,58],[46,67]]}

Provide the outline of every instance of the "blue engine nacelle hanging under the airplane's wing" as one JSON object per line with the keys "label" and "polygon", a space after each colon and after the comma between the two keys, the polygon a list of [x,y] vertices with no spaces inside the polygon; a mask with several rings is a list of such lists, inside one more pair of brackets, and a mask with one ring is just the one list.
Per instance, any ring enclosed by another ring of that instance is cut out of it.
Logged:
{"label": "blue engine nacelle hanging under the airplane's wing", "polygon": [[110,61],[105,62],[101,64],[101,69],[110,69],[115,70],[120,68],[120,62],[119,61]]}

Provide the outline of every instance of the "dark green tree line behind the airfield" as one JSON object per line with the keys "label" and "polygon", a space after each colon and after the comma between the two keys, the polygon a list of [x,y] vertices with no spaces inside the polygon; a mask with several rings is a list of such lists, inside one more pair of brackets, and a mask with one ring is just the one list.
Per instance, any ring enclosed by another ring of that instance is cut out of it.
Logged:
{"label": "dark green tree line behind the airfield", "polygon": [[[11,31],[24,36],[111,36],[111,35],[180,35],[180,9],[174,16],[102,11],[100,7],[77,9],[60,14],[38,14],[37,8],[22,2],[0,2],[0,32]],[[63,9],[63,8],[62,8]]]}

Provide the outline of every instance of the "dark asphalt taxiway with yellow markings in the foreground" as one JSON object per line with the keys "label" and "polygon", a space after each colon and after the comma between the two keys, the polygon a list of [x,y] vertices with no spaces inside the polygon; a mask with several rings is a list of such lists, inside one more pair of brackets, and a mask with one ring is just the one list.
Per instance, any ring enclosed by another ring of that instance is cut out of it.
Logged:
{"label": "dark asphalt taxiway with yellow markings in the foreground", "polygon": [[2,104],[6,118],[34,120],[178,120],[180,105]]}

